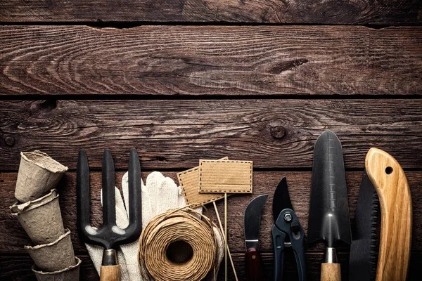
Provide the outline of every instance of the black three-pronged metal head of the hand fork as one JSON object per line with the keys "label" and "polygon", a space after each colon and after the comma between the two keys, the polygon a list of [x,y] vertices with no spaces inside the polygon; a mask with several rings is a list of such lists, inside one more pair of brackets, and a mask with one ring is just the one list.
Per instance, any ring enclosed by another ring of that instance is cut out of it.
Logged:
{"label": "black three-pronged metal head of the hand fork", "polygon": [[110,150],[104,150],[103,171],[103,225],[93,228],[90,224],[90,185],[87,154],[79,151],[77,162],[77,229],[79,237],[86,243],[97,244],[105,249],[115,249],[120,244],[134,242],[142,231],[141,166],[138,152],[130,150],[129,157],[129,226],[119,228],[116,224],[115,170]]}

